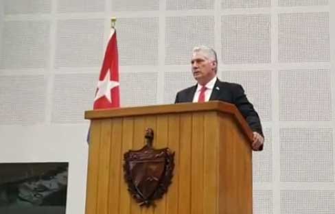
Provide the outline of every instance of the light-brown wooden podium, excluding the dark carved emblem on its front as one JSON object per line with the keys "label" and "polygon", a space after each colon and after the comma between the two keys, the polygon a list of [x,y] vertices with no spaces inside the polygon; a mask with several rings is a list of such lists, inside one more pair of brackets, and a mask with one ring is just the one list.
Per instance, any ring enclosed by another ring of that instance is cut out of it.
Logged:
{"label": "light-brown wooden podium, excluding the dark carved emblem on its front", "polygon": [[[223,102],[90,110],[86,214],[251,214],[253,133]],[[175,152],[172,185],[155,207],[140,207],[124,180],[124,153],[144,145]]]}

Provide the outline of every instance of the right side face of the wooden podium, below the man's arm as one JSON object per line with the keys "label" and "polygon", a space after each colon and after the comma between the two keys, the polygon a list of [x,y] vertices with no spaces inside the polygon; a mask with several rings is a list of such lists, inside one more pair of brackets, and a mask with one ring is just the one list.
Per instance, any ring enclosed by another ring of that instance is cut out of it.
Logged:
{"label": "right side face of the wooden podium, below the man's arm", "polygon": [[237,126],[231,117],[220,117],[220,214],[253,211],[251,147]]}

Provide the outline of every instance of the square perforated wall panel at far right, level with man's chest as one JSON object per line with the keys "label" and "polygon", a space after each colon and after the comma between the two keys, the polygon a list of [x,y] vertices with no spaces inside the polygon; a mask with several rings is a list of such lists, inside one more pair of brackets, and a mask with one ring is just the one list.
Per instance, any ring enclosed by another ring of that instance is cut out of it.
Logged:
{"label": "square perforated wall panel at far right, level with man's chest", "polygon": [[279,71],[281,121],[331,121],[329,69]]}

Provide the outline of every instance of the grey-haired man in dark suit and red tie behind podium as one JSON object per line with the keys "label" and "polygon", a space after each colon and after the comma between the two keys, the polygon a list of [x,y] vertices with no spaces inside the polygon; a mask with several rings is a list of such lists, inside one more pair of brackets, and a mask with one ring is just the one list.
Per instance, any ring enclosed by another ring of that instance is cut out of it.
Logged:
{"label": "grey-haired man in dark suit and red tie behind podium", "polygon": [[235,104],[253,130],[253,150],[263,150],[264,135],[259,116],[253,104],[246,98],[242,86],[218,80],[216,52],[205,46],[195,47],[191,64],[193,76],[198,84],[179,91],[176,95],[176,103],[221,100]]}

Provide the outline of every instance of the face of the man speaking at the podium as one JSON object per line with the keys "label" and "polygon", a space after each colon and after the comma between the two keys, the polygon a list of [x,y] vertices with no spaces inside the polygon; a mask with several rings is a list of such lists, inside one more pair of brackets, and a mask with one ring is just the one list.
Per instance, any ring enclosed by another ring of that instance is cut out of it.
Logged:
{"label": "face of the man speaking at the podium", "polygon": [[194,79],[201,85],[207,84],[216,76],[216,62],[201,52],[193,53],[191,64]]}

